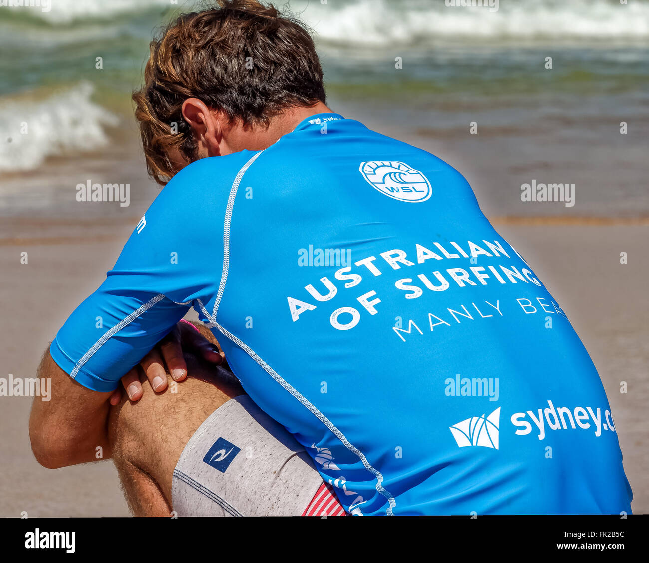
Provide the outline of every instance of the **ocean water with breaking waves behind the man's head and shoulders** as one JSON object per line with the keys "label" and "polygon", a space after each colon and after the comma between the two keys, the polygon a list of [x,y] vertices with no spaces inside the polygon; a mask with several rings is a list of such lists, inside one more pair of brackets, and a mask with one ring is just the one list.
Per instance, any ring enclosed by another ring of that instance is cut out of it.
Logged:
{"label": "ocean water with breaking waves behind the man's head and shoulders", "polygon": [[[79,162],[129,170],[150,201],[129,145],[130,93],[154,30],[210,3],[8,3],[0,0],[0,214],[65,215]],[[332,108],[456,165],[489,213],[649,215],[649,1],[509,0],[497,11],[447,3],[281,5],[313,30]],[[574,182],[578,204],[521,202],[520,184],[532,179]]]}

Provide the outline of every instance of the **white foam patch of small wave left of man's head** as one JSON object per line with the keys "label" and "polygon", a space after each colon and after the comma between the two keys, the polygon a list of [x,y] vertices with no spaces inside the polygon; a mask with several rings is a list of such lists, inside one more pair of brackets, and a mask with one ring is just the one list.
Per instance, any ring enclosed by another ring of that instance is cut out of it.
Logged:
{"label": "white foam patch of small wave left of man's head", "polygon": [[106,145],[104,127],[116,126],[119,119],[91,101],[92,91],[82,82],[41,100],[33,93],[1,100],[0,171],[34,169],[48,156]]}

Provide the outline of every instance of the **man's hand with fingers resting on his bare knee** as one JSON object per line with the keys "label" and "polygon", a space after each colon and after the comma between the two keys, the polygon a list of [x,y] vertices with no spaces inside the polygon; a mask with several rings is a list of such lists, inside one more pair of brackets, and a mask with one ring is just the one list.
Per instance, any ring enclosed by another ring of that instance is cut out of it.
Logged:
{"label": "man's hand with fingers resting on his bare knee", "polygon": [[[211,335],[210,335],[211,336]],[[180,321],[129,373],[121,378],[121,383],[131,401],[139,401],[143,390],[140,383],[140,369],[144,371],[156,393],[167,389],[167,373],[174,381],[187,377],[187,365],[182,356],[190,352],[212,365],[224,363],[223,356],[215,344],[208,341],[198,328],[189,322]],[[166,368],[165,368],[166,366]],[[117,405],[121,400],[121,389],[110,397],[110,404]]]}

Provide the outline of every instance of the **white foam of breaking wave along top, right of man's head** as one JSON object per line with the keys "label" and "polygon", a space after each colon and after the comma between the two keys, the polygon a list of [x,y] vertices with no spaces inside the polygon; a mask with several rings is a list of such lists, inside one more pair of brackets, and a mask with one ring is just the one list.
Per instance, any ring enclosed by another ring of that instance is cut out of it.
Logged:
{"label": "white foam of breaking wave along top, right of man's head", "polygon": [[443,0],[421,2],[358,0],[334,8],[333,1],[303,6],[300,18],[320,40],[391,45],[447,38],[633,38],[649,40],[649,3],[607,0],[500,1],[497,12],[447,7]]}

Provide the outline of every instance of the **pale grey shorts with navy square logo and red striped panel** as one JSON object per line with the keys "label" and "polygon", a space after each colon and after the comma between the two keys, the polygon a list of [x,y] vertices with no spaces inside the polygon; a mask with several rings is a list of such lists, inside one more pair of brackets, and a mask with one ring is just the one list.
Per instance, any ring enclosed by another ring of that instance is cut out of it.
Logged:
{"label": "pale grey shorts with navy square logo and red striped panel", "polygon": [[305,449],[247,395],[221,405],[180,454],[178,516],[345,516]]}

